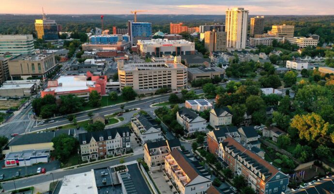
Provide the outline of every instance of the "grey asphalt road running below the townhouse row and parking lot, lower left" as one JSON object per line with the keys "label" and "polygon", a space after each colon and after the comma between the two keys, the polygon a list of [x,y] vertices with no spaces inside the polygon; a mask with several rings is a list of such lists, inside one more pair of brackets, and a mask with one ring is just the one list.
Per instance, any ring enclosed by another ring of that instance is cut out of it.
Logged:
{"label": "grey asphalt road running below the townhouse row and parking lot, lower left", "polygon": [[[135,160],[137,160],[137,158],[143,158],[143,154],[126,157],[126,158],[124,158],[124,161],[125,162],[135,161]],[[119,164],[119,163],[120,163],[120,159],[117,159],[117,160],[113,160],[113,161],[107,161],[107,162],[101,162],[101,163],[96,163],[96,164],[92,164],[92,165],[87,165],[87,166],[83,166],[83,167],[79,167],[79,168],[75,168],[75,169],[69,169],[69,170],[64,170],[64,171],[60,171],[60,172],[54,172],[53,173],[53,178],[56,181],[56,180],[61,179],[64,176],[67,176],[67,175],[84,173],[84,172],[91,171],[91,169],[94,169],[94,168],[103,168],[103,167],[113,166],[113,165],[116,165],[116,164]],[[28,187],[30,185],[35,185],[35,184],[39,184],[39,183],[46,182],[46,181],[52,181],[52,175],[48,172],[46,172],[46,174],[43,174],[43,175],[37,175],[37,176],[29,177],[29,178],[17,179],[17,180],[15,180],[15,185],[16,185],[16,188],[23,188],[23,187]],[[2,186],[3,186],[3,189],[5,191],[15,189],[13,180],[8,181],[8,182],[3,182]]]}

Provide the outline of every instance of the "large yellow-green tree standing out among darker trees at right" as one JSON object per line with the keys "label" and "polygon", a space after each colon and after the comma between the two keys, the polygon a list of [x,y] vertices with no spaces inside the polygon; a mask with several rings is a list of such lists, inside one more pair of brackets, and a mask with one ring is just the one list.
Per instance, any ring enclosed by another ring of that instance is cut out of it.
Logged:
{"label": "large yellow-green tree standing out among darker trees at right", "polygon": [[328,122],[325,123],[317,113],[295,115],[291,121],[291,127],[298,129],[299,137],[309,142],[315,141],[320,137],[329,138],[330,124]]}

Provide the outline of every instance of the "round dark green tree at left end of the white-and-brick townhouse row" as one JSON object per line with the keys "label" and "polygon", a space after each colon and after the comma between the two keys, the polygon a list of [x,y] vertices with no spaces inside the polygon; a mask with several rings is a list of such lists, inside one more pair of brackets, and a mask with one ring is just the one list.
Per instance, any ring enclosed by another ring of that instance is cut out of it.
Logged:
{"label": "round dark green tree at left end of the white-and-brick townhouse row", "polygon": [[77,151],[77,140],[65,133],[52,139],[54,151],[52,154],[61,162],[66,162]]}

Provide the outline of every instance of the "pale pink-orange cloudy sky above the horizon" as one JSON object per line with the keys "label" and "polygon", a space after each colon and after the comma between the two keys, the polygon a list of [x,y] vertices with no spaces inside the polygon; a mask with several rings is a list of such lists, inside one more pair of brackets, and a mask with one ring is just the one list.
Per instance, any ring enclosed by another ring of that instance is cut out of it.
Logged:
{"label": "pale pink-orange cloudy sky above the horizon", "polygon": [[225,15],[243,7],[250,15],[334,15],[334,0],[0,0],[0,14]]}

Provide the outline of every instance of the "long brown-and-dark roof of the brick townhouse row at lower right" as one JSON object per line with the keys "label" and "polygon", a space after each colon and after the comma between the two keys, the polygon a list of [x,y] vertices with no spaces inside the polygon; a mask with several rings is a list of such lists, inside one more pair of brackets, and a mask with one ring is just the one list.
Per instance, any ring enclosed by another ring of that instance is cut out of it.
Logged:
{"label": "long brown-and-dark roof of the brick townhouse row at lower right", "polygon": [[[243,159],[243,161],[246,161],[249,164],[251,164],[253,167],[255,167],[257,171],[261,173],[261,175],[265,176],[265,180],[264,180],[265,182],[268,182],[273,176],[275,176],[277,173],[280,172],[272,164],[265,161],[264,159],[259,157],[256,153],[252,152],[251,150],[245,148],[243,145],[241,145],[239,142],[237,142],[232,137],[226,138],[223,141],[222,145],[224,146],[224,148],[227,147],[235,153],[234,158],[237,158],[239,156]],[[247,167],[247,165],[244,165],[243,162],[241,163],[245,168],[248,168],[249,170],[251,169],[251,165]],[[251,171],[251,172],[255,174],[254,171]],[[281,173],[281,174],[284,175],[284,173]],[[256,174],[256,176],[258,176],[258,174]],[[288,176],[282,177],[282,178],[288,178]]]}

